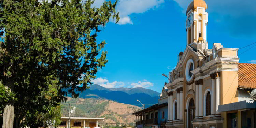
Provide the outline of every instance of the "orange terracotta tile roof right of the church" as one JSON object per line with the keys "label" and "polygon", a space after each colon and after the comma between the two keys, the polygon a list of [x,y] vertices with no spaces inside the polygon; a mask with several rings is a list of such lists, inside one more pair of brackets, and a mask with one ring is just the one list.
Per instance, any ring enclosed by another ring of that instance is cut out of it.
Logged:
{"label": "orange terracotta tile roof right of the church", "polygon": [[256,88],[256,64],[238,63],[238,87]]}

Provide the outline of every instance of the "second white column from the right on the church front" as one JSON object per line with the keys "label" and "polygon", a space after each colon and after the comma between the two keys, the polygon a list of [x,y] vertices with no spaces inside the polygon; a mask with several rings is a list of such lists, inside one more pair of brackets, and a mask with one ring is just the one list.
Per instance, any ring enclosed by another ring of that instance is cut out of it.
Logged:
{"label": "second white column from the right on the church front", "polygon": [[214,74],[212,74],[212,79],[211,79],[211,81],[212,81],[212,88],[211,88],[211,116],[215,116],[215,107],[216,107],[216,105],[215,105],[215,103],[216,103],[216,100],[215,100],[215,75]]}

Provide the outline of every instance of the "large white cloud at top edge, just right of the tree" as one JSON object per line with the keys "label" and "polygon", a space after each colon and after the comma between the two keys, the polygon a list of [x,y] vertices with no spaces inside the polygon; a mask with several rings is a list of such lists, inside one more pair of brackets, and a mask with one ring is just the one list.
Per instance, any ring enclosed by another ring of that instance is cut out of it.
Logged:
{"label": "large white cloud at top edge, just right of the tree", "polygon": [[152,8],[157,8],[164,0],[119,0],[116,11],[119,12],[118,24],[133,24],[129,17],[132,13],[143,13]]}

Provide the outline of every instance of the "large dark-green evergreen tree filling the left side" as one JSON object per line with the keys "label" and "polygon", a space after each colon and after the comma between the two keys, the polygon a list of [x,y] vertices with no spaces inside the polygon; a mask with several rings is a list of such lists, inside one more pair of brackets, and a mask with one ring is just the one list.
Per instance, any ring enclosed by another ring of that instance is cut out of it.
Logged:
{"label": "large dark-green evergreen tree filling the left side", "polygon": [[52,111],[67,93],[88,88],[108,62],[96,37],[111,17],[119,20],[116,3],[0,0],[2,128],[29,125],[26,119]]}

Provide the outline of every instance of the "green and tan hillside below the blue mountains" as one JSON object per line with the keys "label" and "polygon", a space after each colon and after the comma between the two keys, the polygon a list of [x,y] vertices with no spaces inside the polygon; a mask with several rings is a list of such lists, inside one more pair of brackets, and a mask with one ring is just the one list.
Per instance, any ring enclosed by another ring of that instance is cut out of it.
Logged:
{"label": "green and tan hillside below the blue mountains", "polygon": [[[115,126],[116,124],[134,125],[135,116],[133,112],[140,110],[138,106],[118,103],[111,100],[98,98],[68,98],[62,103],[62,116],[68,117],[69,104],[74,111],[71,117],[101,117],[104,118],[100,125]],[[74,110],[75,107],[75,110]]]}

